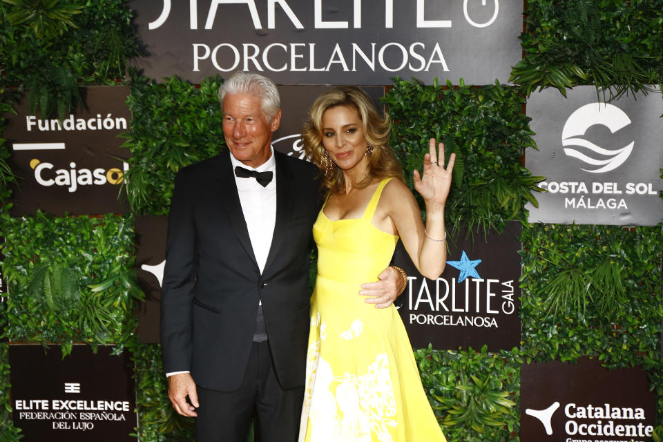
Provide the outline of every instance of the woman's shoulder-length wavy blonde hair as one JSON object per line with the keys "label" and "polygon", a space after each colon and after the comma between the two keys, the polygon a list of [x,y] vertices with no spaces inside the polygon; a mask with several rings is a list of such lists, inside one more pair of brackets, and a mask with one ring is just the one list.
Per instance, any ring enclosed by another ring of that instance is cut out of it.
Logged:
{"label": "woman's shoulder-length wavy blonde hair", "polygon": [[[323,146],[323,113],[336,106],[350,106],[359,113],[363,126],[363,133],[368,144],[374,147],[369,154],[368,174],[365,179],[358,183],[360,189],[368,186],[374,180],[383,180],[388,177],[396,177],[405,181],[403,177],[403,166],[398,162],[394,151],[389,146],[391,132],[391,120],[389,115],[381,117],[371,98],[356,86],[339,86],[328,90],[316,99],[311,110],[309,119],[302,130],[304,138],[304,149],[307,157],[314,162],[323,175],[323,191],[344,193],[345,180],[343,171],[332,162],[332,173],[325,174],[325,146]],[[331,160],[327,160],[330,161]]]}

